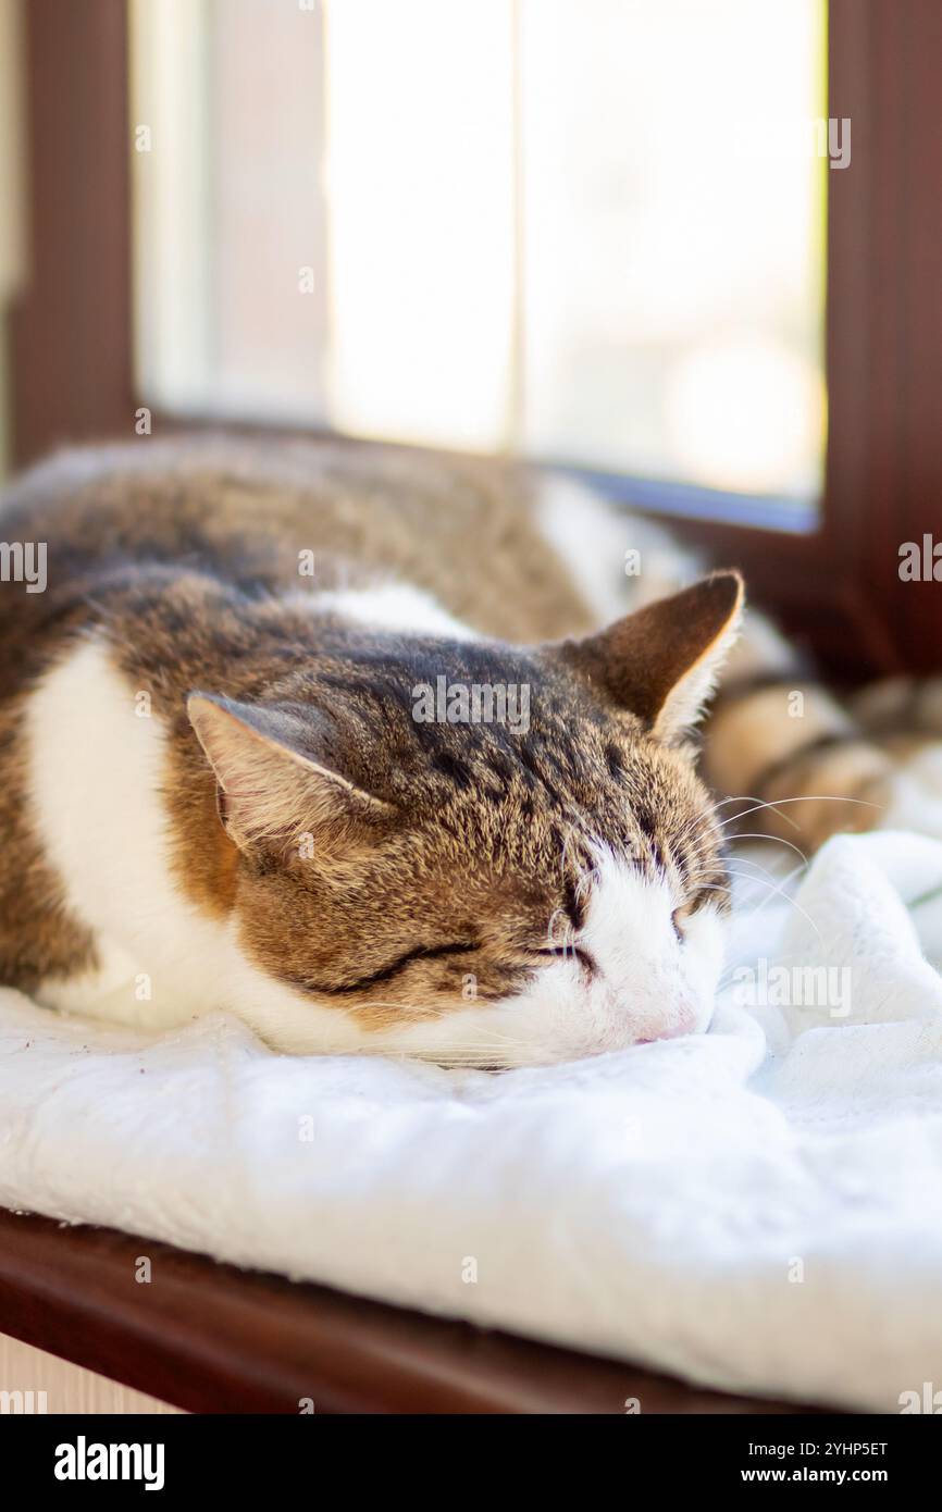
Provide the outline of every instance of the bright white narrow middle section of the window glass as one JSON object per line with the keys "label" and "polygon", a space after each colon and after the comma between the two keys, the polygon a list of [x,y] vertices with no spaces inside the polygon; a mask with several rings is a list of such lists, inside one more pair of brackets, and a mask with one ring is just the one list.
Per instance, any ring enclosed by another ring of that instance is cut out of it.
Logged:
{"label": "bright white narrow middle section of the window glass", "polygon": [[328,8],[331,419],[508,442],[514,295],[507,0]]}

